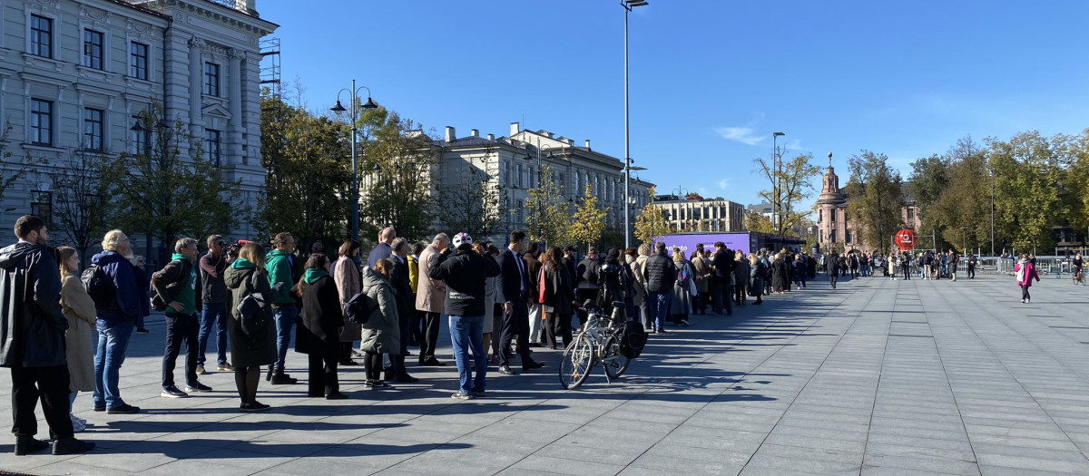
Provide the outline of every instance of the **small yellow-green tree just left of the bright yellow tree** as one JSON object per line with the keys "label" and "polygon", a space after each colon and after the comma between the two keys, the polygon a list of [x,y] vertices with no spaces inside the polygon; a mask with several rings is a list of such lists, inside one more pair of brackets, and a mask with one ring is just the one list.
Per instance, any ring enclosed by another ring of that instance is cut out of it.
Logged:
{"label": "small yellow-green tree just left of the bright yellow tree", "polygon": [[526,211],[526,228],[530,240],[544,241],[550,247],[565,247],[576,242],[570,235],[571,206],[554,180],[552,167],[541,167],[540,186],[529,189]]}

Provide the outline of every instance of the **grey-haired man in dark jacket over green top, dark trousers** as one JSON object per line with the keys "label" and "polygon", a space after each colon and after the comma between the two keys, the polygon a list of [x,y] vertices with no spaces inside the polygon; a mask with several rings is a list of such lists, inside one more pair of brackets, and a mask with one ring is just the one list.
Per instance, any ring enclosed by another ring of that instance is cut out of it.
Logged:
{"label": "grey-haired man in dark jacket over green top, dark trousers", "polygon": [[[156,300],[167,312],[167,347],[162,355],[162,397],[179,399],[186,392],[211,391],[197,381],[197,310],[200,309],[200,275],[197,273],[197,240],[182,238],[174,243],[174,255],[151,276]],[[185,391],[174,385],[174,364],[185,340]]]}

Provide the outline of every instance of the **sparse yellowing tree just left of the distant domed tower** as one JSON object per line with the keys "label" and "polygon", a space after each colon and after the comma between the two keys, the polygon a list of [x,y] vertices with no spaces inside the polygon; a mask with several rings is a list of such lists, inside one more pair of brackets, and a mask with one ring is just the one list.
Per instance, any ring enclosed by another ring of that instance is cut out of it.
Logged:
{"label": "sparse yellowing tree just left of the distant domed tower", "polygon": [[798,203],[812,195],[812,179],[820,176],[820,167],[812,164],[812,154],[808,152],[780,163],[779,170],[775,170],[774,163],[769,164],[763,159],[756,159],[755,162],[757,171],[771,184],[770,190],[760,190],[760,197],[779,211],[779,220],[769,221],[772,230],[768,233],[786,236],[812,213],[811,210],[796,209]]}

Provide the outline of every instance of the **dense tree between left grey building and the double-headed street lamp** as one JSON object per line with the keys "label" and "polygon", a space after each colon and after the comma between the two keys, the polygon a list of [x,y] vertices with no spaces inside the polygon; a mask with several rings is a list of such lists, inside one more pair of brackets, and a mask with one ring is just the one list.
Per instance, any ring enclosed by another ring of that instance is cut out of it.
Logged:
{"label": "dense tree between left grey building and the double-headed street lamp", "polygon": [[352,199],[348,126],[276,99],[264,103],[259,229],[291,231],[304,250],[316,241],[339,245]]}

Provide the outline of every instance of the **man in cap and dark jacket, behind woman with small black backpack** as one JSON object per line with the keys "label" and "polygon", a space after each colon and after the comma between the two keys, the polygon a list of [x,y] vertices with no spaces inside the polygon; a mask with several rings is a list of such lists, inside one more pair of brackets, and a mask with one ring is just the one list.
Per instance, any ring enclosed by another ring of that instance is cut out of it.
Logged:
{"label": "man in cap and dark jacket, behind woman with small black backpack", "polygon": [[[320,245],[320,243],[315,243]],[[223,283],[223,271],[227,270],[227,255],[223,253],[223,237],[208,237],[208,252],[200,256],[200,283],[204,309],[200,310],[200,334],[197,336],[197,375],[204,374],[205,352],[208,350],[208,337],[212,327],[216,331],[216,369],[234,372],[227,361],[227,285]]]}

